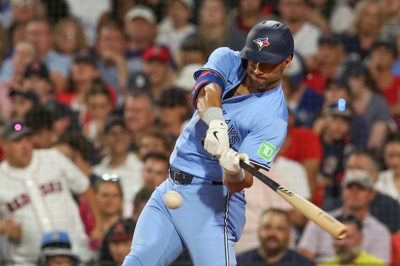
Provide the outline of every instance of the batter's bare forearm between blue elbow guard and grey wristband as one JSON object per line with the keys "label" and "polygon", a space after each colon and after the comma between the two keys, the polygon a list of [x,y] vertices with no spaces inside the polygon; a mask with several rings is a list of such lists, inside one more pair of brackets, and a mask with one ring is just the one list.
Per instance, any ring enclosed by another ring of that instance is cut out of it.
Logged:
{"label": "batter's bare forearm between blue elbow guard and grey wristband", "polygon": [[216,83],[208,83],[197,94],[197,111],[200,119],[204,121],[204,113],[210,107],[222,108],[222,89]]}

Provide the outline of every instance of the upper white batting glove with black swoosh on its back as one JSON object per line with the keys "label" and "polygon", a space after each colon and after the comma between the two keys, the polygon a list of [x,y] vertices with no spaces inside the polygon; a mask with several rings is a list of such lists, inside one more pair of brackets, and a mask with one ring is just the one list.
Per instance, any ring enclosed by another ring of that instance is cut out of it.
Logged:
{"label": "upper white batting glove with black swoosh on its back", "polygon": [[229,138],[225,121],[212,120],[204,138],[204,149],[213,156],[220,157],[229,149]]}

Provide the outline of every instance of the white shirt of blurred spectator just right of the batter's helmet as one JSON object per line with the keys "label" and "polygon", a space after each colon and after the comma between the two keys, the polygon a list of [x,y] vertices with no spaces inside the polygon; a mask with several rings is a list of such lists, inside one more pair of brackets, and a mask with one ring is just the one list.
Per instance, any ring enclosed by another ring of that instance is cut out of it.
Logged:
{"label": "white shirt of blurred spectator just right of the batter's helmet", "polygon": [[304,22],[299,30],[293,34],[294,49],[304,58],[316,53],[321,30],[311,24]]}

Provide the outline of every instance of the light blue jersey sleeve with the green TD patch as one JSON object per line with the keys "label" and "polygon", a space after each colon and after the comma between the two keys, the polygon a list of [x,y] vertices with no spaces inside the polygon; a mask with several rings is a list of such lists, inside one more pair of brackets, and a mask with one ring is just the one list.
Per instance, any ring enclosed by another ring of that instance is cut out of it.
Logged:
{"label": "light blue jersey sleeve with the green TD patch", "polygon": [[267,171],[286,137],[287,123],[278,117],[257,122],[245,137],[238,153],[246,153],[250,163]]}

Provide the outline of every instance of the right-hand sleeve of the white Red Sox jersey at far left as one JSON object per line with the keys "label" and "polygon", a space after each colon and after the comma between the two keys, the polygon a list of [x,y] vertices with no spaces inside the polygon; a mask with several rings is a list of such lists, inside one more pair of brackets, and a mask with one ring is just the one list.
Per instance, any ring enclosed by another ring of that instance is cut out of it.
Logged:
{"label": "right-hand sleeve of the white Red Sox jersey at far left", "polygon": [[62,153],[57,150],[56,161],[61,168],[62,176],[65,178],[69,189],[75,194],[82,194],[89,188],[89,179]]}

